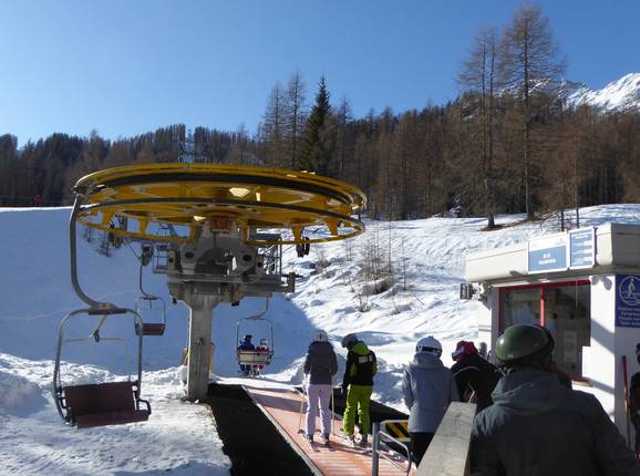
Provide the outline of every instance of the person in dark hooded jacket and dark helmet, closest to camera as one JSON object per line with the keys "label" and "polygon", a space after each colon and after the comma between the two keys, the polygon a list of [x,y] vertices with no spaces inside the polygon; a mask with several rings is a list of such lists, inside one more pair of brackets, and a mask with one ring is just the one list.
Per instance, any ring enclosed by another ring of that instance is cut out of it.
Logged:
{"label": "person in dark hooded jacket and dark helmet, closest to camera", "polygon": [[473,424],[472,474],[638,476],[640,463],[600,402],[551,373],[554,341],[515,324],[496,342],[505,375]]}

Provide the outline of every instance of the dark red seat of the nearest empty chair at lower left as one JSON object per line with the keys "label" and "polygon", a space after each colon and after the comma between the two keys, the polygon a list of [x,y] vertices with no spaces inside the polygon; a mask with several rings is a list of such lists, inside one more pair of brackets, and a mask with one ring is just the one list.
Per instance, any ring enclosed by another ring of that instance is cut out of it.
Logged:
{"label": "dark red seat of the nearest empty chair at lower left", "polygon": [[[137,396],[135,382],[71,385],[62,389],[66,420],[79,428],[145,422],[151,405]],[[144,403],[146,408],[140,407]]]}

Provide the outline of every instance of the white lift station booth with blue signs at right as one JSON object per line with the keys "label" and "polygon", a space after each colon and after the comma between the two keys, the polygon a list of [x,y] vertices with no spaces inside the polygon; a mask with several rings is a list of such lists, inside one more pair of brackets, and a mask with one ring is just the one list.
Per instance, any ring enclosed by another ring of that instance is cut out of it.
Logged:
{"label": "white lift station booth with blue signs at right", "polygon": [[640,372],[640,226],[606,224],[474,252],[465,279],[461,296],[478,300],[481,342],[493,349],[516,323],[549,329],[558,368],[631,444],[626,393]]}

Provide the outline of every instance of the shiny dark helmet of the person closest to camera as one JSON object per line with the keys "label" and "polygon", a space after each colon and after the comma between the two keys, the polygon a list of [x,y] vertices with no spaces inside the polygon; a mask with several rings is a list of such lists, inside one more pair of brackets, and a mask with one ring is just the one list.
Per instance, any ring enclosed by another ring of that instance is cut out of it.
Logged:
{"label": "shiny dark helmet of the person closest to camera", "polygon": [[538,358],[550,355],[553,350],[550,332],[534,324],[510,325],[496,342],[496,356],[507,366],[534,363]]}

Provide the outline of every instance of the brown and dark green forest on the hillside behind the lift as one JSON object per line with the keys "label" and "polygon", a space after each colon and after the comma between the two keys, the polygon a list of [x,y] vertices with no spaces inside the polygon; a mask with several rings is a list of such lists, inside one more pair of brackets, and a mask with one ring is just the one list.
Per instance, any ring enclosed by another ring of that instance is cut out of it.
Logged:
{"label": "brown and dark green forest on the hillside behind the lift", "polygon": [[[374,218],[445,213],[537,214],[640,201],[640,111],[568,107],[549,84],[565,60],[538,7],[519,8],[500,30],[477,32],[445,105],[354,117],[332,103],[321,77],[313,101],[299,72],[276,84],[256,132],[176,124],[105,139],[55,133],[18,148],[0,136],[0,206],[70,204],[91,172],[177,161],[312,170],[360,186]],[[429,91],[425,91],[425,96]]]}

